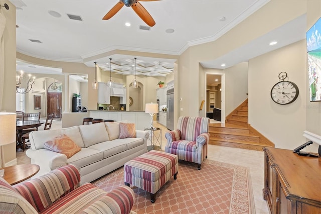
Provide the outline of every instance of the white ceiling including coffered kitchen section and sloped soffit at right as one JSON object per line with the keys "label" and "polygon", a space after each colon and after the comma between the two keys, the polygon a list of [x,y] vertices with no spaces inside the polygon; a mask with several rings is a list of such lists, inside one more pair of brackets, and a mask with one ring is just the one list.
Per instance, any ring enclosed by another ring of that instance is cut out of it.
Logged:
{"label": "white ceiling including coffered kitchen section and sloped soffit at right", "polygon": [[[161,0],[140,2],[156,22],[148,26],[131,8],[123,7],[110,20],[103,16],[118,0],[10,0],[16,7],[17,51],[29,56],[65,62],[82,62],[118,74],[165,76],[188,47],[214,41],[263,7],[269,0]],[[10,9],[13,10],[13,9]],[[75,19],[75,17],[77,19]],[[72,19],[71,19],[72,18]],[[125,26],[128,22],[131,26]],[[280,48],[305,36],[306,18],[281,26],[216,59],[200,62],[207,68],[226,67]],[[144,29],[144,30],[143,30]],[[285,30],[283,30],[285,29]],[[277,38],[276,38],[277,37]],[[274,47],[267,44],[280,39]],[[137,55],[114,54],[114,50]],[[110,54],[113,53],[113,54]],[[140,56],[139,53],[144,53]],[[150,56],[148,56],[150,53]],[[154,54],[172,57],[154,58]],[[17,70],[37,66],[17,62]],[[36,67],[36,68],[35,68]],[[47,72],[41,68],[39,72]],[[49,69],[49,72],[53,72]],[[57,69],[58,74],[61,69]]]}

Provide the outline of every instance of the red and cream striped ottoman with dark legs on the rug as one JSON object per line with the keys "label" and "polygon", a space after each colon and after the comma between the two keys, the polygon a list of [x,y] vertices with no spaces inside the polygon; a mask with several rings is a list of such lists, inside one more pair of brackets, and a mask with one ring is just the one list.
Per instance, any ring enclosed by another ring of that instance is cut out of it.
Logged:
{"label": "red and cream striped ottoman with dark legs on the rug", "polygon": [[150,151],[142,154],[124,165],[125,185],[137,186],[150,193],[150,201],[155,202],[156,192],[179,170],[177,155]]}

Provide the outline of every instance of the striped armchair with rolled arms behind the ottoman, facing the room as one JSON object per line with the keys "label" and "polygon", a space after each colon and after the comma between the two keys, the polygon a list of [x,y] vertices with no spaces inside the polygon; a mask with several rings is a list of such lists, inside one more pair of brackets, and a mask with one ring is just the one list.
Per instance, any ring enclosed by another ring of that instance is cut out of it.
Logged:
{"label": "striped armchair with rolled arms behind the ottoman, facing the room", "polygon": [[209,123],[209,118],[180,117],[177,129],[165,134],[165,152],[178,155],[180,160],[197,163],[200,170],[207,158]]}

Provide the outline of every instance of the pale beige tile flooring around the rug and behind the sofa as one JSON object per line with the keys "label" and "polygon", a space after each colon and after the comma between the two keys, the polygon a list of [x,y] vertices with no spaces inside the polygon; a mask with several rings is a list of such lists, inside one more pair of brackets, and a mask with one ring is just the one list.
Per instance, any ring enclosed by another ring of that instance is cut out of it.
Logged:
{"label": "pale beige tile flooring around the rug and behind the sofa", "polygon": [[[165,148],[165,133],[167,128],[154,122],[154,127],[162,129],[162,150]],[[55,120],[51,129],[60,129],[61,121]],[[43,128],[39,128],[42,130]],[[150,145],[150,142],[149,142]],[[18,164],[30,163],[21,149],[17,150]],[[250,170],[250,179],[252,183],[255,211],[258,214],[269,213],[267,203],[263,199],[262,189],[264,187],[264,152],[252,151],[246,149],[229,148],[215,145],[208,145],[208,159],[248,167]]]}

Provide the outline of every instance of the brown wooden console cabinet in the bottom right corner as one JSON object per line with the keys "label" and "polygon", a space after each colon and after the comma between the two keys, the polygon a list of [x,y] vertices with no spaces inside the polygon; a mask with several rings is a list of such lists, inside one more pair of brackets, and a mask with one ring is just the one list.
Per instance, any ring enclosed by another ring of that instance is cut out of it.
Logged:
{"label": "brown wooden console cabinet in the bottom right corner", "polygon": [[264,148],[263,197],[271,213],[321,213],[321,158]]}

